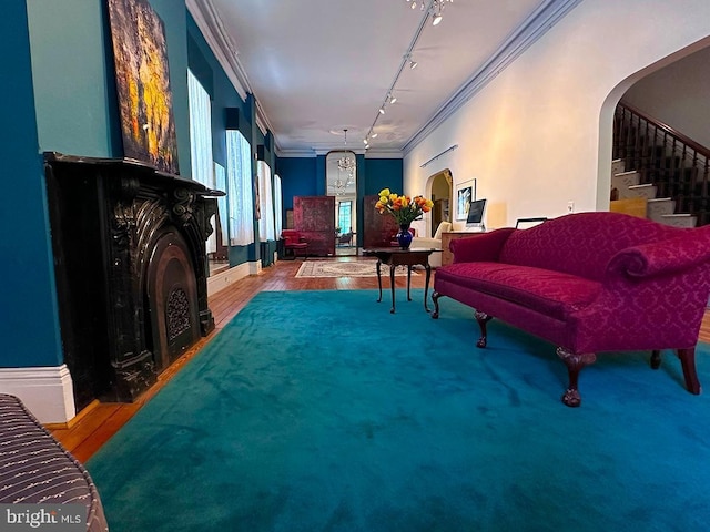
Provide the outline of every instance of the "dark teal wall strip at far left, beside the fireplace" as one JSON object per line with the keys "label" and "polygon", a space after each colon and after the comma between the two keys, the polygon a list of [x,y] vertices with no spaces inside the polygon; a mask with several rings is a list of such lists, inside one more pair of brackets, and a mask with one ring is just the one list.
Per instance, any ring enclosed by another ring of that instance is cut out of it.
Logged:
{"label": "dark teal wall strip at far left, beside the fireplace", "polygon": [[62,361],[44,172],[32,90],[24,2],[4,2],[0,17],[0,367]]}

